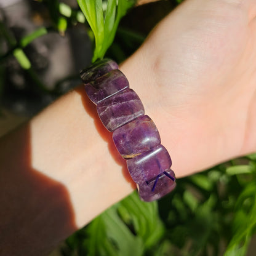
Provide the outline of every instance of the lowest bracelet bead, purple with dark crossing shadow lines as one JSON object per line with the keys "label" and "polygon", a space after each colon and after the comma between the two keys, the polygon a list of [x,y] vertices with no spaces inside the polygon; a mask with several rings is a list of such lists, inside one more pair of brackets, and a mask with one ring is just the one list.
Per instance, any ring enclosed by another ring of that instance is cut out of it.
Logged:
{"label": "lowest bracelet bead, purple with dark crossing shadow lines", "polygon": [[166,170],[166,173],[169,177],[166,174],[161,174],[157,182],[156,179],[154,179],[149,183],[143,182],[137,184],[140,199],[146,202],[158,200],[174,190],[176,186],[174,171],[169,169]]}

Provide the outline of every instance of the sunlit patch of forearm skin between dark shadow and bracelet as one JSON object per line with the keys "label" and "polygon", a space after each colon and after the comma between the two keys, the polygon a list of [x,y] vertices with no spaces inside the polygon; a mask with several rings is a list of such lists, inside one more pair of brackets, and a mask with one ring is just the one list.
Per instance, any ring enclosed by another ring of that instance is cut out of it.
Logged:
{"label": "sunlit patch of forearm skin between dark shadow and bracelet", "polygon": [[83,87],[41,113],[31,130],[33,166],[70,191],[79,227],[134,188]]}

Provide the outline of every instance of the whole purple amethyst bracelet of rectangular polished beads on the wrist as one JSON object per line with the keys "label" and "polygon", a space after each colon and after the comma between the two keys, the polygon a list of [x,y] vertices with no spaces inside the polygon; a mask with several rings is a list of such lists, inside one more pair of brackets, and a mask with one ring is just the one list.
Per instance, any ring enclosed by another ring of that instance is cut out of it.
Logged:
{"label": "whole purple amethyst bracelet of rectangular polished beads on the wrist", "polygon": [[158,129],[138,95],[129,88],[126,76],[110,59],[95,62],[81,71],[86,93],[97,105],[103,125],[126,159],[130,176],[143,201],[153,201],[175,188],[172,160],[161,145]]}

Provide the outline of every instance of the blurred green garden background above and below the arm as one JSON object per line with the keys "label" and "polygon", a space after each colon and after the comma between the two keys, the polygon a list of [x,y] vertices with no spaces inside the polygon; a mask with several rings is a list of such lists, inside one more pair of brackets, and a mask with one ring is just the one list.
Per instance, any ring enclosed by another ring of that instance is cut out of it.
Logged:
{"label": "blurred green garden background above and below the arm", "polygon": [[[116,26],[114,42],[106,42],[111,44],[106,57],[117,62],[180,1],[138,7],[134,0],[121,2],[127,4],[122,15],[129,11]],[[103,1],[105,18],[107,4]],[[75,0],[2,0],[0,7],[4,135],[80,83],[79,70],[90,64],[97,36]],[[179,179],[174,193],[158,202],[142,202],[132,193],[51,255],[255,255],[255,177],[256,154],[251,154]]]}

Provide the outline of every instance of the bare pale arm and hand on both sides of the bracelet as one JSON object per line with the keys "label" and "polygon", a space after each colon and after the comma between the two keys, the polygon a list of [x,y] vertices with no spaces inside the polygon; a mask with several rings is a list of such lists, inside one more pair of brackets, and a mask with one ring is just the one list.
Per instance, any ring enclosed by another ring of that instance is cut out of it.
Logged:
{"label": "bare pale arm and hand on both sides of the bracelet", "polygon": [[[255,0],[187,0],[122,63],[177,178],[256,151],[255,60]],[[135,188],[82,87],[0,148],[0,255],[46,255]]]}

